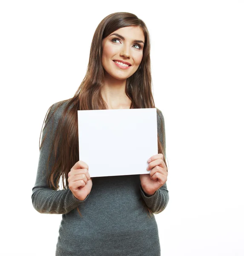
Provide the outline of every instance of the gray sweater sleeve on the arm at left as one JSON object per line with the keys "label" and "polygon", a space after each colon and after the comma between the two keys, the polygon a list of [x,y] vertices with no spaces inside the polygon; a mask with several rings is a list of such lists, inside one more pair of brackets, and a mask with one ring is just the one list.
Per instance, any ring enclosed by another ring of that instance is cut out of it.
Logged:
{"label": "gray sweater sleeve on the arm at left", "polygon": [[[39,162],[37,167],[37,176],[34,187],[32,188],[32,204],[34,209],[40,213],[50,213],[50,214],[66,214],[72,209],[78,207],[78,205],[89,197],[87,197],[80,201],[75,198],[72,191],[68,189],[63,190],[54,190],[49,187],[47,183],[48,173],[51,172],[52,163],[54,160],[54,154],[51,155],[50,160],[48,162],[49,153],[51,150],[51,144],[54,139],[54,134],[57,129],[57,120],[58,116],[60,116],[60,109],[51,115],[55,109],[55,105],[53,104],[50,107],[49,115],[45,120],[45,125],[43,128],[42,140],[46,136],[43,145],[40,148]],[[51,115],[50,119],[49,116]],[[48,172],[47,172],[47,164],[48,164]]]}

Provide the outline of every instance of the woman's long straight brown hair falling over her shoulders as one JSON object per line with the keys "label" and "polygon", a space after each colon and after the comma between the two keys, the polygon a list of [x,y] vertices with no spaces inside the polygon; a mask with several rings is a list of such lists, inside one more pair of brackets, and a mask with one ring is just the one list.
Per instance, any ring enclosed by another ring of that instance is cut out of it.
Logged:
{"label": "woman's long straight brown hair falling over her shoulders", "polygon": [[[126,26],[139,26],[143,30],[145,36],[141,64],[139,65],[138,70],[136,70],[132,76],[126,79],[125,92],[132,101],[130,108],[155,108],[151,86],[150,40],[146,25],[143,20],[139,19],[132,13],[112,13],[106,16],[95,30],[86,75],[75,95],[70,99],[58,102],[59,104],[57,104],[54,111],[47,111],[47,113],[49,113],[47,116],[47,118],[49,117],[47,122],[49,122],[57,108],[63,105],[63,103],[67,103],[62,115],[59,118],[52,143],[52,149],[50,150],[49,155],[50,159],[51,154],[54,154],[55,159],[54,163],[52,164],[51,172],[48,176],[48,184],[52,189],[59,189],[58,184],[60,177],[62,177],[63,188],[68,188],[68,173],[70,172],[72,166],[79,161],[77,111],[108,109],[108,106],[106,105],[106,102],[103,101],[100,93],[101,86],[104,82],[104,69],[101,59],[102,40],[115,30]],[[52,108],[52,106],[50,108]],[[50,114],[51,112],[52,114]],[[158,109],[157,112],[159,112]],[[163,131],[163,125],[164,120],[161,119],[161,131]],[[42,145],[43,142],[39,148],[41,148]],[[164,163],[166,164],[165,136],[163,136],[161,141],[158,136],[158,154],[159,153],[164,155]],[[151,209],[146,206],[144,200],[142,201],[144,207],[146,207],[150,214],[152,214]],[[78,212],[80,214],[79,209]]]}

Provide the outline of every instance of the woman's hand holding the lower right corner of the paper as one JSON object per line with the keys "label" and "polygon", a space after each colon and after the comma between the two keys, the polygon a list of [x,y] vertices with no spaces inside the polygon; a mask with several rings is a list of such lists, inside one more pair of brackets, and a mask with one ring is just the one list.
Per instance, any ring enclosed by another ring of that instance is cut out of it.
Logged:
{"label": "woman's hand holding the lower right corner of the paper", "polygon": [[163,154],[156,154],[149,158],[147,170],[149,174],[140,174],[141,187],[147,196],[154,193],[164,185],[167,180],[168,171],[164,163]]}

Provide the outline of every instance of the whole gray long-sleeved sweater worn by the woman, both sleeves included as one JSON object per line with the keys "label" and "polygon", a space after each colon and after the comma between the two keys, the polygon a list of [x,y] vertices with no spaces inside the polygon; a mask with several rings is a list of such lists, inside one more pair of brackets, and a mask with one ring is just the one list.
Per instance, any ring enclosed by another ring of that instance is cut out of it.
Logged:
{"label": "whole gray long-sleeved sweater worn by the woman, both sleeves included", "polygon": [[[53,132],[65,105],[66,103],[61,105],[53,115]],[[160,115],[164,125],[161,111]],[[158,225],[154,215],[149,218],[150,214],[144,207],[143,200],[154,214],[162,212],[169,201],[166,183],[154,195],[147,197],[141,187],[140,175],[93,177],[92,190],[83,201],[75,198],[69,188],[50,189],[46,174],[49,145],[52,141],[50,121],[43,128],[42,140],[47,130],[49,132],[40,149],[32,204],[40,213],[62,214],[55,255],[160,256]],[[157,114],[158,134],[163,143],[165,129],[161,131],[160,122]]]}

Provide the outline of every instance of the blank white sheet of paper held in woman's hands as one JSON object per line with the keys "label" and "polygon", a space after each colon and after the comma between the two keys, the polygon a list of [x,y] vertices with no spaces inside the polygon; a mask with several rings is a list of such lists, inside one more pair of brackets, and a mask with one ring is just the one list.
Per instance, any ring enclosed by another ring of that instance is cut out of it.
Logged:
{"label": "blank white sheet of paper held in woman's hands", "polygon": [[79,160],[90,177],[148,174],[158,154],[157,109],[78,110]]}

